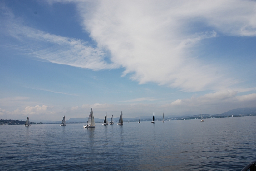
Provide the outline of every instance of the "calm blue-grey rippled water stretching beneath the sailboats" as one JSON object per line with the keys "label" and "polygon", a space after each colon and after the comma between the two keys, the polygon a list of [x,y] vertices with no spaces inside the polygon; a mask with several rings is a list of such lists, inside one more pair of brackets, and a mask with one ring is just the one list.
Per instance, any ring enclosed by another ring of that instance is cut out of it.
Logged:
{"label": "calm blue-grey rippled water stretching beneath the sailboats", "polygon": [[0,126],[0,170],[237,170],[256,160],[256,116]]}

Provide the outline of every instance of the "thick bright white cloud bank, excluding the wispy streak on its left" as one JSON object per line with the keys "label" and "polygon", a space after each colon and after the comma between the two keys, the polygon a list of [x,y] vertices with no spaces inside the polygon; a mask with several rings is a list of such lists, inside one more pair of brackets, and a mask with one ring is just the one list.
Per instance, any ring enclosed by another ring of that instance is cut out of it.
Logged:
{"label": "thick bright white cloud bank, excluding the wispy streak on its left", "polygon": [[155,82],[183,91],[220,90],[237,83],[214,74],[220,66],[190,54],[202,39],[216,31],[256,35],[254,1],[97,1],[77,7],[86,31],[111,51],[111,61],[126,69],[124,75],[132,74],[140,84]]}

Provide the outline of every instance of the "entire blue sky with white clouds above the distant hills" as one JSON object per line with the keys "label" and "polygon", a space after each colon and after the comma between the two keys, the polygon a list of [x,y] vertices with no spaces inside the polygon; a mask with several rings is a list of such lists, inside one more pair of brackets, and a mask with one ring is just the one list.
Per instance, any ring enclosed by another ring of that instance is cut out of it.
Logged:
{"label": "entire blue sky with white clouds above the distant hills", "polygon": [[256,1],[0,0],[0,118],[256,107]]}

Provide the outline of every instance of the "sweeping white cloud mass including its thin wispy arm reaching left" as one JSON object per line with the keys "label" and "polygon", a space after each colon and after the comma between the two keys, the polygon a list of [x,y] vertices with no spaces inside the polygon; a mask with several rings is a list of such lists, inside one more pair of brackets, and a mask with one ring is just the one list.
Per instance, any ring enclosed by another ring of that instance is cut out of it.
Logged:
{"label": "sweeping white cloud mass including its thin wispy arm reaching left", "polygon": [[16,49],[32,56],[92,70],[124,67],[123,75],[131,74],[140,84],[154,82],[190,92],[219,91],[239,82],[215,74],[223,70],[221,64],[207,64],[190,53],[201,40],[218,33],[256,35],[255,1],[73,2],[97,47],[25,26],[8,9],[1,29],[24,43]]}

